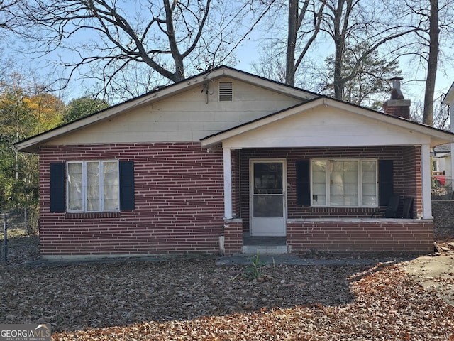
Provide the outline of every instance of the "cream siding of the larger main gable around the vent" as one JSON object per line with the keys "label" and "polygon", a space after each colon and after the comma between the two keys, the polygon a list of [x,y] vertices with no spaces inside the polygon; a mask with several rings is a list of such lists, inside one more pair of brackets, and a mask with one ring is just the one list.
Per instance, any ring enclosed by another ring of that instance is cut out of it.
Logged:
{"label": "cream siding of the larger main gable around the vent", "polygon": [[100,144],[199,141],[199,139],[301,103],[239,80],[233,82],[233,102],[218,101],[218,82],[209,82],[208,103],[204,85],[160,102],[111,117],[83,131],[52,140],[50,144]]}

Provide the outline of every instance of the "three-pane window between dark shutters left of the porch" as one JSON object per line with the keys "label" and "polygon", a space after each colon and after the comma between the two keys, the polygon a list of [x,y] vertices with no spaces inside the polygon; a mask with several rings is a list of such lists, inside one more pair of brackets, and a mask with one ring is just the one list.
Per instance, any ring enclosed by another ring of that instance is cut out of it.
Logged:
{"label": "three-pane window between dark shutters left of the porch", "polygon": [[67,163],[67,211],[112,212],[120,210],[118,161]]}

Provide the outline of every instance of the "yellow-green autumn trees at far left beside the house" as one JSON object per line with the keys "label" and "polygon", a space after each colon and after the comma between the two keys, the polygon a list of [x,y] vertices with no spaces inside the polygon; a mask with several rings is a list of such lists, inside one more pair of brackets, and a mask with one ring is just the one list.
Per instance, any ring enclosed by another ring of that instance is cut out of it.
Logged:
{"label": "yellow-green autumn trees at far left beside the house", "polygon": [[28,90],[23,75],[12,73],[8,79],[0,84],[0,205],[37,207],[38,156],[17,153],[13,144],[60,124],[63,104],[51,94]]}

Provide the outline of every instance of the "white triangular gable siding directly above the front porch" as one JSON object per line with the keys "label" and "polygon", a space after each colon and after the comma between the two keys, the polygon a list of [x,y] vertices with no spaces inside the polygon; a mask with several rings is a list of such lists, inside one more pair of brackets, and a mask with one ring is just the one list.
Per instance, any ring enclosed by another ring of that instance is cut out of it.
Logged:
{"label": "white triangular gable siding directly above the front porch", "polygon": [[226,139],[223,147],[402,146],[429,143],[430,137],[424,134],[321,105]]}

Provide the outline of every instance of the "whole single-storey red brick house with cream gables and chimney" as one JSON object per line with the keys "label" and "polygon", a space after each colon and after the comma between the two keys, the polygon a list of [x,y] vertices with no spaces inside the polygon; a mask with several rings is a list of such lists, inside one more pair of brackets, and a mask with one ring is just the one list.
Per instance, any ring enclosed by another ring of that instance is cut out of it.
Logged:
{"label": "whole single-storey red brick house with cream gables and chimney", "polygon": [[[217,67],[33,136],[41,257],[433,251],[430,151],[454,134],[409,105]],[[411,218],[371,218],[393,193]]]}

